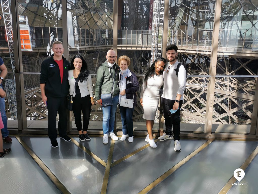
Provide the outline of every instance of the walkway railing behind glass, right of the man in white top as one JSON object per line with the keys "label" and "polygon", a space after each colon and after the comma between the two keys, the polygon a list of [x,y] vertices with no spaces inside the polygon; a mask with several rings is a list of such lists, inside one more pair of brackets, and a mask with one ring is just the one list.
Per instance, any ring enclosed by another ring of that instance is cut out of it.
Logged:
{"label": "walkway railing behind glass, right of the man in white top", "polygon": [[[179,49],[211,50],[212,30],[171,30],[168,43]],[[220,29],[218,51],[258,51],[257,29]]]}

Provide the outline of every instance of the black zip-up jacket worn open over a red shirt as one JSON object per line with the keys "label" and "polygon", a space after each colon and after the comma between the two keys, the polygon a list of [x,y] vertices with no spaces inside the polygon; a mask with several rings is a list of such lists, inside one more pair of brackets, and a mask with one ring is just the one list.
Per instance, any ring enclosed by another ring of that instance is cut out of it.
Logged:
{"label": "black zip-up jacket worn open over a red shirt", "polygon": [[63,58],[63,81],[61,84],[60,70],[57,62],[54,61],[54,54],[42,62],[40,71],[40,83],[46,84],[46,96],[64,97],[69,93],[68,69],[69,61]]}

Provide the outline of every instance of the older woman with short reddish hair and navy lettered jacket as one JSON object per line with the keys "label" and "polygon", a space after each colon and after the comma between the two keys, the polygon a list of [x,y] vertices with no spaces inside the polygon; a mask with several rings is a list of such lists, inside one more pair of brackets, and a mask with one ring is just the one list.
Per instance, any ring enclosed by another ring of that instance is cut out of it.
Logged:
{"label": "older woman with short reddish hair and navy lettered jacket", "polygon": [[[123,135],[120,140],[124,141],[128,137],[128,141],[133,142],[133,109],[136,104],[136,92],[139,90],[139,82],[135,74],[128,69],[130,65],[129,57],[123,55],[118,58],[117,63],[120,67],[118,80],[120,93],[118,103],[123,125]],[[124,107],[121,103],[123,99],[133,100],[133,107]]]}

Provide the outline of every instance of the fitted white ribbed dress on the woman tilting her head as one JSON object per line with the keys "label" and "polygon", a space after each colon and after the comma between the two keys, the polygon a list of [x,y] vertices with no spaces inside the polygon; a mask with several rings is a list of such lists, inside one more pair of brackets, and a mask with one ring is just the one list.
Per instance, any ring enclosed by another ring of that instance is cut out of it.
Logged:
{"label": "fitted white ribbed dress on the woman tilting her head", "polygon": [[163,83],[162,74],[154,74],[154,77],[150,77],[147,83],[142,83],[140,98],[142,98],[143,102],[143,118],[146,120],[155,120],[159,105],[159,90]]}

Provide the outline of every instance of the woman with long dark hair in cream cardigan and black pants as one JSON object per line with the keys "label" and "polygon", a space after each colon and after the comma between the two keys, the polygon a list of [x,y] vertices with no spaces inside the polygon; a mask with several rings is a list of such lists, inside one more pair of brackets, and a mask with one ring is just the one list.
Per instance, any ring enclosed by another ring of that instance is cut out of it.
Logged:
{"label": "woman with long dark hair in cream cardigan and black pants", "polygon": [[[74,96],[72,101],[72,112],[74,113],[75,125],[79,132],[80,141],[90,140],[87,134],[90,122],[91,105],[94,105],[93,87],[87,63],[81,55],[72,58],[68,71],[69,93]],[[82,114],[83,131],[82,131]]]}

